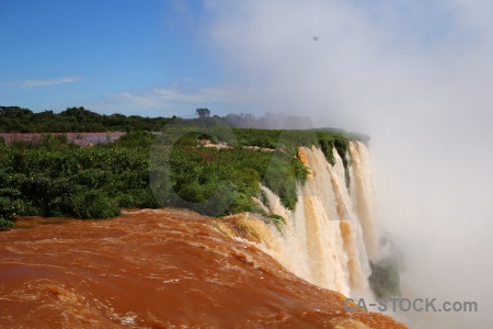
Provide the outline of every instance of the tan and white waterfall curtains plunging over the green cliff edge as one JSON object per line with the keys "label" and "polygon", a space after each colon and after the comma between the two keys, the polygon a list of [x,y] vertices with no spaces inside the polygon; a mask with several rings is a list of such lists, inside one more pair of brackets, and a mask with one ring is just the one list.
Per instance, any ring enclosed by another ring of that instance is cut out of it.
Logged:
{"label": "tan and white waterfall curtains plunging over the green cliff edge", "polygon": [[[335,149],[333,156],[331,166],[322,150],[299,148],[298,158],[309,174],[305,184],[298,185],[294,211],[262,186],[266,208],[286,222],[282,231],[260,224],[252,214],[238,220],[254,231],[261,249],[296,275],[346,296],[368,295],[368,258],[377,252],[370,158],[359,141],[349,143],[347,169]],[[349,171],[348,186],[345,170]]]}

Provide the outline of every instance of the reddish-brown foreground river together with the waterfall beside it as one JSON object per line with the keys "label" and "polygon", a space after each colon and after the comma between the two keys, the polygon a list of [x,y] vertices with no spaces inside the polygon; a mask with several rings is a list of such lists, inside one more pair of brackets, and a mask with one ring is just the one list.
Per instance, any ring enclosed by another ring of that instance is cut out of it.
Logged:
{"label": "reddish-brown foreground river together with the waterfall beside it", "polygon": [[0,234],[0,327],[405,328],[344,309],[370,294],[378,246],[366,148],[352,143],[347,173],[334,155],[300,148],[310,174],[294,212],[262,188],[282,232],[252,214],[170,208],[19,219]]}

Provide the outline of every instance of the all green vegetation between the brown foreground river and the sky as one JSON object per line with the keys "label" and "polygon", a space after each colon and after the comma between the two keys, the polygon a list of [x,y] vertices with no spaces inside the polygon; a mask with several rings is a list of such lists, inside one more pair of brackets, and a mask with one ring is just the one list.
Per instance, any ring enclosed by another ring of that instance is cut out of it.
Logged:
{"label": "all green vegetation between the brown foreground river and the sky", "polygon": [[[15,122],[32,120],[26,131],[36,132],[45,131],[44,125],[76,132],[105,128],[115,117],[83,107],[60,114],[0,107],[0,114],[3,131],[19,131]],[[56,117],[43,122],[38,115]],[[3,124],[5,117],[13,118]],[[158,131],[158,125],[164,128],[158,133],[128,128],[131,120],[150,131]],[[263,184],[286,207],[295,207],[297,185],[307,178],[296,157],[300,146],[321,147],[331,163],[335,148],[348,166],[348,139],[339,132],[231,128],[207,115],[191,121],[131,116],[113,127],[127,134],[87,148],[69,143],[65,135],[43,134],[36,140],[12,144],[0,139],[0,229],[11,227],[15,216],[107,218],[125,207],[160,206],[210,216],[261,213],[279,228],[283,219],[268,217],[252,196],[265,198]],[[217,148],[197,147],[205,139]]]}

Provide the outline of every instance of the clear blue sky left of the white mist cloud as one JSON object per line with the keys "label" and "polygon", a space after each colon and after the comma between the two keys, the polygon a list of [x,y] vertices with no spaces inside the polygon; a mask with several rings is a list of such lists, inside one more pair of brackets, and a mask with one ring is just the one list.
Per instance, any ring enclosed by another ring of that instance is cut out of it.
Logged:
{"label": "clear blue sky left of the white mist cloud", "polygon": [[180,101],[177,109],[159,109],[144,102],[118,111],[117,99],[153,88],[195,92],[219,83],[217,63],[197,38],[206,22],[200,1],[3,0],[1,104],[193,113],[194,105],[207,104],[193,101],[187,109]]}

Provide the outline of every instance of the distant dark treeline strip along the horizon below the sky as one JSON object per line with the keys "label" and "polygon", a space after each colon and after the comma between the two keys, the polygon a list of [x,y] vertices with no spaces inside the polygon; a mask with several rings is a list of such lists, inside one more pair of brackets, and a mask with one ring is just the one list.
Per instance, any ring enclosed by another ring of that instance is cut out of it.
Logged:
{"label": "distant dark treeline strip along the horizon below the sky", "polygon": [[[208,111],[208,109],[197,110]],[[196,127],[229,126],[260,129],[313,129],[312,123],[306,116],[288,116],[271,112],[260,117],[255,117],[251,113],[209,116],[209,113],[210,111],[207,112],[207,115],[185,120],[177,116],[126,116],[119,113],[106,115],[92,112],[82,106],[69,107],[60,113],[54,113],[53,111],[35,113],[19,106],[0,106],[0,133],[158,132],[170,122]],[[340,134],[349,139],[358,139],[365,143],[369,140],[369,137],[366,135],[346,133],[336,128],[317,128],[317,131]]]}

